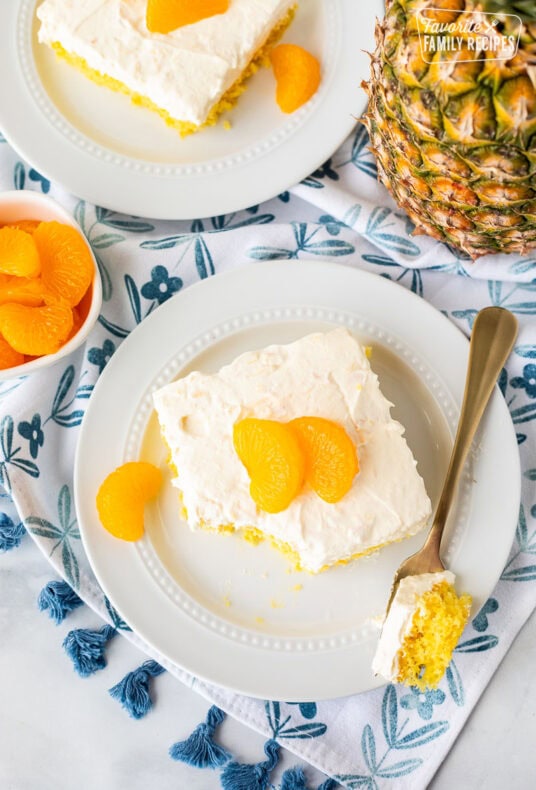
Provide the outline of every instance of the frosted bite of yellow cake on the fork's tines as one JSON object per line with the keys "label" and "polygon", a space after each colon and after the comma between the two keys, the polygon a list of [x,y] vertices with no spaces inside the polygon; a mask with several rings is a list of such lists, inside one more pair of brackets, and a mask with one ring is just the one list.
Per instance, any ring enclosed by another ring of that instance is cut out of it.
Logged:
{"label": "frosted bite of yellow cake on the fork's tines", "polygon": [[458,596],[454,580],[443,571],[400,581],[372,663],[375,674],[421,691],[438,685],[471,609],[471,597]]}

